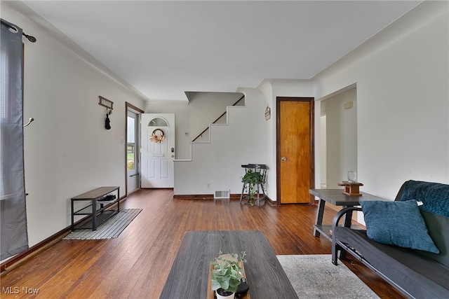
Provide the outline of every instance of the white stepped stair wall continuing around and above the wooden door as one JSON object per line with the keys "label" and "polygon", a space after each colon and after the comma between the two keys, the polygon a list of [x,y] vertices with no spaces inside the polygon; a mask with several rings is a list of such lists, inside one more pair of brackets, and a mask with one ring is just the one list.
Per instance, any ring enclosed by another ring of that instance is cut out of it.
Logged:
{"label": "white stepped stair wall continuing around and above the wooden door", "polygon": [[[192,161],[175,161],[175,195],[241,193],[241,165],[269,167],[267,195],[276,200],[276,97],[313,97],[311,81],[262,81],[258,88],[238,88],[245,106],[228,107],[227,125],[212,125],[210,143],[192,144]],[[268,106],[272,117],[265,120]],[[192,174],[194,174],[192,176]],[[207,188],[210,183],[210,188]]]}

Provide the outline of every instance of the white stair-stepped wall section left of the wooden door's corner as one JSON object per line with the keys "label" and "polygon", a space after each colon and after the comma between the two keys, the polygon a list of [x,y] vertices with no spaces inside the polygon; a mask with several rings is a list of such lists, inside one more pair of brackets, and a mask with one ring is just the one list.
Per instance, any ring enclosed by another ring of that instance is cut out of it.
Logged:
{"label": "white stair-stepped wall section left of the wooden door's corner", "polygon": [[192,160],[175,161],[175,195],[213,194],[223,189],[239,194],[241,165],[267,164],[263,95],[255,88],[238,91],[245,95],[246,106],[228,106],[227,125],[211,125],[210,142],[193,143]]}

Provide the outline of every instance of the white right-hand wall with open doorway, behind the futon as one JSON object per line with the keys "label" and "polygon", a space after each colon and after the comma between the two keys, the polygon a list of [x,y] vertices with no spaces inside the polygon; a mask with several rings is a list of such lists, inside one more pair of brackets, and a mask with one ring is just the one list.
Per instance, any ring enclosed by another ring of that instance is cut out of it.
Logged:
{"label": "white right-hand wall with open doorway, behind the futon", "polygon": [[449,183],[448,19],[447,1],[424,1],[314,78],[317,99],[357,85],[367,193],[393,200],[409,179]]}

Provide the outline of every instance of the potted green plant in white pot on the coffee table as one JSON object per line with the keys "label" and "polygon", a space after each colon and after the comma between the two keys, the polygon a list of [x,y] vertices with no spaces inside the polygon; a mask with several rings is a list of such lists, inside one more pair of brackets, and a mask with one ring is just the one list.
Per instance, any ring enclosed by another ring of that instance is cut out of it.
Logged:
{"label": "potted green plant in white pot on the coffee table", "polygon": [[[241,283],[243,274],[243,263],[246,263],[246,252],[242,251],[240,256],[236,253],[222,254],[215,258],[211,268],[212,289],[217,299],[234,299],[234,295]],[[239,260],[240,258],[240,260]]]}

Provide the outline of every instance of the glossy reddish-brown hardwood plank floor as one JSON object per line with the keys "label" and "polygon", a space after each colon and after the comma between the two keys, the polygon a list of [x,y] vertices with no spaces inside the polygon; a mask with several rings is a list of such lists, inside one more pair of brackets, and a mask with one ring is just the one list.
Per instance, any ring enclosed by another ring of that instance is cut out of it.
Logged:
{"label": "glossy reddish-brown hardwood plank floor", "polygon": [[[118,238],[61,240],[3,274],[0,297],[159,298],[186,230],[262,230],[278,255],[330,253],[330,242],[312,235],[316,206],[310,204],[251,207],[139,190],[121,207],[143,211]],[[323,223],[332,223],[333,213],[326,211]],[[403,298],[354,258],[343,262],[381,298]],[[27,288],[39,293],[26,294]]]}

